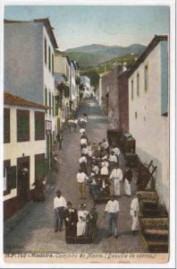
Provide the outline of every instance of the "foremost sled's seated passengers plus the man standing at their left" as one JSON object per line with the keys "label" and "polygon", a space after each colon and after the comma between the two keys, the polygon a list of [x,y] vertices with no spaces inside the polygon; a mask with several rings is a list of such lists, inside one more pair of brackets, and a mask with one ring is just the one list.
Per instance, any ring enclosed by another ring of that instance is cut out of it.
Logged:
{"label": "foremost sled's seated passengers plus the man standing at their left", "polygon": [[57,190],[54,199],[55,232],[63,230],[64,222],[66,237],[90,236],[94,230],[97,230],[97,211],[95,205],[90,211],[86,209],[86,204],[81,203],[77,212],[72,202],[66,203],[61,191]]}

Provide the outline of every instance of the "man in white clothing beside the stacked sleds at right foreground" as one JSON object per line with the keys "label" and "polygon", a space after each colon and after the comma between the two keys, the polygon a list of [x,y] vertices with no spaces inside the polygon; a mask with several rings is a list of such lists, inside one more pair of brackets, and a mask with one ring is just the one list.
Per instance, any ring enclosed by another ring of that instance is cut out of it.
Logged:
{"label": "man in white clothing beside the stacked sleds at right foreground", "polygon": [[139,198],[140,195],[135,195],[131,201],[130,214],[132,217],[131,231],[133,235],[136,235],[139,230]]}

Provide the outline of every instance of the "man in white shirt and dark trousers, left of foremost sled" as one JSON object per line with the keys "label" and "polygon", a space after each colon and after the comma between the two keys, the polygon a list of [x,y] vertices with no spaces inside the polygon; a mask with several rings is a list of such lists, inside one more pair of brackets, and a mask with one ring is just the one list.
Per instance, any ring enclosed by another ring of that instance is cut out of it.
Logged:
{"label": "man in white shirt and dark trousers, left of foremost sled", "polygon": [[61,194],[61,191],[57,190],[54,199],[55,232],[63,229],[63,213],[66,208],[66,201]]}

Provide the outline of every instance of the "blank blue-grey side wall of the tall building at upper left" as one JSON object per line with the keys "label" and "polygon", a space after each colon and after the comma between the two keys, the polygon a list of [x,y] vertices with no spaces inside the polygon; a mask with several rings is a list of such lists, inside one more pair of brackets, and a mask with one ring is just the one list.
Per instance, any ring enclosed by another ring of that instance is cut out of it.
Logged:
{"label": "blank blue-grey side wall of the tall building at upper left", "polygon": [[43,24],[4,23],[4,90],[43,103]]}

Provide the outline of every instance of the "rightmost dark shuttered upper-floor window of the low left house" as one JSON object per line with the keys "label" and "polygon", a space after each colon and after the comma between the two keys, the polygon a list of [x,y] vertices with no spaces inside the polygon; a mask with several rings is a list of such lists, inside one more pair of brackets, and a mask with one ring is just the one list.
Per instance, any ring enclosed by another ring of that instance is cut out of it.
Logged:
{"label": "rightmost dark shuttered upper-floor window of the low left house", "polygon": [[35,111],[35,140],[45,140],[45,113]]}

